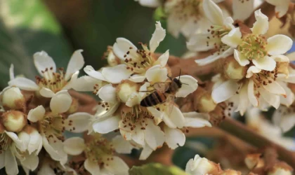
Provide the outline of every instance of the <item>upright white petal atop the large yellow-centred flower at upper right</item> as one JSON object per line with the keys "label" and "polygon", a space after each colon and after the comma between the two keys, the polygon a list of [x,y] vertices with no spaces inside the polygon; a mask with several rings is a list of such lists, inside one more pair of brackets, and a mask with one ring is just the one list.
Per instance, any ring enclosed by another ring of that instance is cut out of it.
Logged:
{"label": "upright white petal atop the large yellow-centred flower at upper right", "polygon": [[261,13],[261,9],[255,11],[256,22],[251,28],[253,34],[265,34],[268,31],[268,17]]}

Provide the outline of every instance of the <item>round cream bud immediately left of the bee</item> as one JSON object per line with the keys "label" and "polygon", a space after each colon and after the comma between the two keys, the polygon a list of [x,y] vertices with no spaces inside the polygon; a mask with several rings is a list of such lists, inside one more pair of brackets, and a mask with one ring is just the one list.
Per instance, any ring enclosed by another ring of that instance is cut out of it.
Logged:
{"label": "round cream bud immediately left of the bee", "polygon": [[124,103],[127,102],[131,94],[138,92],[139,86],[131,80],[124,80],[117,85],[117,97]]}

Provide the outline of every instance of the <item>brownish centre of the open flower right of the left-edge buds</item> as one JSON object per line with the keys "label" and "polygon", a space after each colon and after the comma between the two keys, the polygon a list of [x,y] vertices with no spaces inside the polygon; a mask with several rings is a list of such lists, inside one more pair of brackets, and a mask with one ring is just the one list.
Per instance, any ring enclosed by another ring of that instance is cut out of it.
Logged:
{"label": "brownish centre of the open flower right of the left-edge buds", "polygon": [[[69,123],[68,125],[71,125]],[[46,113],[44,119],[39,121],[40,130],[44,132],[47,138],[55,135],[63,140],[63,132],[65,131],[65,118],[61,114]]]}

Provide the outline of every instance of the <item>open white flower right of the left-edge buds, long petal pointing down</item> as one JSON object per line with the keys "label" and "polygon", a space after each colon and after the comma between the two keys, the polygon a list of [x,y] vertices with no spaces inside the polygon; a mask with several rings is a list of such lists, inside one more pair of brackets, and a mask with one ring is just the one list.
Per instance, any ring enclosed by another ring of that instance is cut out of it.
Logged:
{"label": "open white flower right of the left-edge buds, long petal pointing down", "polygon": [[67,154],[63,151],[64,130],[84,132],[89,125],[89,118],[86,115],[83,118],[83,116],[81,117],[81,115],[74,113],[66,120],[63,118],[61,113],[67,110],[67,106],[64,103],[68,101],[64,102],[64,98],[71,99],[70,94],[65,92],[63,96],[57,99],[57,102],[55,102],[55,99],[51,99],[51,102],[54,102],[54,105],[51,105],[51,111],[46,112],[43,106],[37,106],[37,108],[31,109],[27,116],[29,121],[37,123],[39,126],[45,150],[51,155],[53,160],[60,161],[61,164],[65,164],[67,161]]}

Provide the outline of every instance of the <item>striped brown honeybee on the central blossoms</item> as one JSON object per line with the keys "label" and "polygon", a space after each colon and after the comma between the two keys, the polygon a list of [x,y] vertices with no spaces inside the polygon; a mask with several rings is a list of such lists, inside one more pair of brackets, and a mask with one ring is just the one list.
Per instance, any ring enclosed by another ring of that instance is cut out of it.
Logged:
{"label": "striped brown honeybee on the central blossoms", "polygon": [[164,102],[168,102],[169,99],[174,99],[176,92],[178,92],[179,88],[183,85],[181,83],[181,76],[178,78],[171,78],[170,82],[158,82],[153,85],[155,91],[148,94],[141,102],[140,106],[150,107],[155,106],[157,104],[162,104]]}

